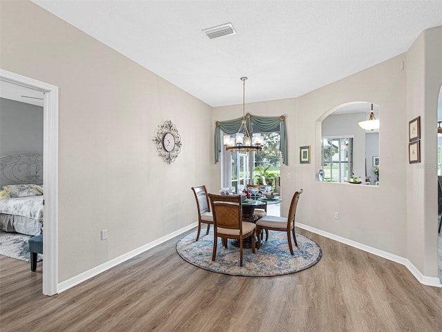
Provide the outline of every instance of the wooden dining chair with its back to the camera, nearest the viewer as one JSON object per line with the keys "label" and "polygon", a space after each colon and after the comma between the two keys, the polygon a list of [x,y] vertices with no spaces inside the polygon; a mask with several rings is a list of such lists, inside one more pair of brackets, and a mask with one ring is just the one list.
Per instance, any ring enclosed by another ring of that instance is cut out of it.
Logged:
{"label": "wooden dining chair with its back to the camera, nearest the viewer", "polygon": [[[251,251],[255,252],[255,229],[253,222],[242,221],[241,196],[224,196],[209,194],[211,202],[214,236],[213,236],[213,255],[216,257],[216,247],[218,237],[222,239],[236,239],[240,242],[240,266],[242,266],[242,242],[244,238],[251,237]],[[227,241],[224,246],[227,246]]]}

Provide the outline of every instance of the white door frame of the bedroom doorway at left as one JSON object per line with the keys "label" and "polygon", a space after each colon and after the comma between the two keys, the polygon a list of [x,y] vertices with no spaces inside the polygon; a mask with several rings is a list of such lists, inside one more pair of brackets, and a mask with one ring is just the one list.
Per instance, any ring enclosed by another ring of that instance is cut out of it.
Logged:
{"label": "white door frame of the bedroom doorway at left", "polygon": [[0,69],[0,81],[44,92],[43,293],[55,295],[58,293],[58,87],[3,69]]}

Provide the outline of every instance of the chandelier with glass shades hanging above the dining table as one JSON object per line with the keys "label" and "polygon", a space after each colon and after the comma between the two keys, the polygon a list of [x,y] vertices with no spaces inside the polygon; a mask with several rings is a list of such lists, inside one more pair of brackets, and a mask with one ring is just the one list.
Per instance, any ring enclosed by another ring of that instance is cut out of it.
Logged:
{"label": "chandelier with glass shades hanging above the dining table", "polygon": [[245,84],[247,81],[247,77],[241,77],[242,81],[242,120],[241,126],[236,133],[235,137],[231,137],[230,135],[224,135],[223,141],[224,146],[226,146],[226,150],[228,151],[242,151],[242,152],[250,152],[250,151],[260,151],[262,148],[262,144],[264,143],[264,139],[261,134],[252,134],[249,132],[247,128],[247,120],[245,114]]}

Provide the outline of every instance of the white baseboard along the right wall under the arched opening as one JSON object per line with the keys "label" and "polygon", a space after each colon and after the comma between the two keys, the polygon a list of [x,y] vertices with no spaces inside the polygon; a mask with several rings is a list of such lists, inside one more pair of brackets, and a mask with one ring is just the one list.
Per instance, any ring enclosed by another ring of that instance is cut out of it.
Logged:
{"label": "white baseboard along the right wall under the arched opening", "polygon": [[355,242],[353,240],[346,239],[345,237],[340,237],[339,235],[334,235],[332,233],[328,233],[325,231],[321,231],[318,228],[314,228],[305,224],[300,224],[299,222],[296,222],[296,227],[305,229],[306,231],[309,231],[311,233],[315,233],[318,235],[321,235],[323,237],[328,237],[329,239],[341,242],[343,244],[347,244],[349,246],[353,246],[354,248],[361,249],[363,251],[366,251],[367,253],[372,253],[376,256],[383,257],[387,260],[391,260],[393,262],[403,264],[406,268],[414,275],[414,277],[421,283],[427,286],[434,286],[434,287],[442,287],[441,280],[439,280],[439,277],[427,277],[426,275],[423,275],[421,271],[419,271],[410,260],[407,260],[407,258],[394,255],[392,253],[387,253],[387,251],[382,251],[376,248],[373,248],[372,246],[367,246],[365,244],[361,244],[359,242]]}

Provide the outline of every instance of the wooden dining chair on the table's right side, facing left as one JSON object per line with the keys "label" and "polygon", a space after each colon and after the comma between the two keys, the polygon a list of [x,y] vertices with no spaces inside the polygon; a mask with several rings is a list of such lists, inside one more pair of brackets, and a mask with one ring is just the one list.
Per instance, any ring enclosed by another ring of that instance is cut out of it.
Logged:
{"label": "wooden dining chair on the table's right side, facing left", "polygon": [[295,195],[293,195],[290,204],[289,217],[285,218],[285,217],[276,217],[273,215],[267,215],[262,219],[259,219],[258,222],[256,222],[256,234],[258,235],[258,237],[260,237],[258,238],[258,249],[260,248],[260,242],[262,241],[263,229],[265,229],[266,231],[268,230],[281,231],[281,232],[287,232],[287,241],[289,242],[290,253],[291,255],[294,255],[293,246],[291,245],[290,234],[293,235],[293,238],[295,240],[295,246],[298,246],[295,234],[295,214],[296,214],[296,206],[298,206],[298,200],[302,192],[303,190],[300,189],[299,191],[296,191]]}

